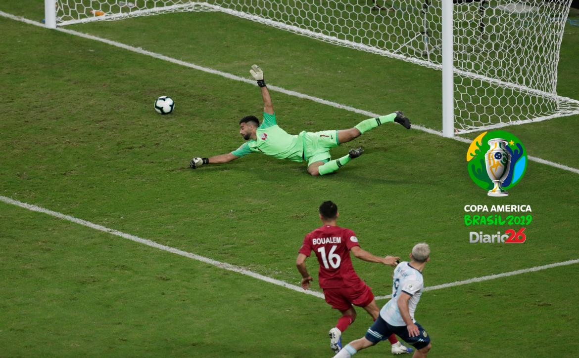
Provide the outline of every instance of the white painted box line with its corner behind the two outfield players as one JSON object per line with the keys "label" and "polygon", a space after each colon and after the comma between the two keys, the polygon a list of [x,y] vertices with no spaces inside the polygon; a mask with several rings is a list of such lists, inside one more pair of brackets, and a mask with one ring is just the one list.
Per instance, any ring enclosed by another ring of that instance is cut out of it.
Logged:
{"label": "white painted box line with its corner behind the two outfield players", "polygon": [[[56,217],[56,218],[63,219],[66,221],[74,222],[74,223],[77,223],[79,225],[86,226],[87,228],[99,230],[99,231],[102,231],[105,233],[113,234],[115,236],[126,238],[126,239],[131,240],[131,241],[135,241],[135,243],[144,244],[144,245],[156,248],[156,249],[160,249],[163,251],[175,253],[177,255],[185,256],[186,258],[189,258],[189,259],[208,263],[208,264],[211,264],[213,266],[223,268],[225,270],[229,270],[229,271],[233,271],[233,272],[240,273],[243,275],[247,275],[247,276],[250,276],[250,277],[253,277],[256,279],[261,279],[262,281],[269,282],[270,284],[282,286],[282,287],[285,287],[287,289],[294,290],[296,292],[310,294],[310,295],[316,296],[320,299],[324,298],[323,293],[312,291],[312,290],[305,291],[300,286],[288,284],[288,282],[281,281],[280,279],[275,279],[275,278],[267,277],[267,276],[264,276],[264,275],[261,275],[258,273],[254,273],[253,271],[246,270],[243,267],[234,266],[234,265],[229,264],[229,263],[219,262],[217,260],[212,260],[212,259],[206,258],[204,256],[196,255],[195,253],[190,253],[190,252],[182,251],[182,250],[174,248],[174,247],[155,243],[155,241],[147,240],[146,238],[141,238],[138,236],[134,236],[131,234],[126,234],[126,233],[120,232],[118,230],[109,229],[109,228],[106,228],[105,226],[98,225],[98,224],[92,223],[90,221],[71,217],[70,215],[61,214],[60,212],[48,210],[48,209],[45,209],[45,208],[42,208],[42,207],[39,207],[36,205],[19,202],[18,200],[11,199],[10,197],[0,196],[0,202],[19,206],[21,208],[25,208],[25,209],[28,209],[30,211],[42,212],[43,214],[47,214],[47,215],[50,215],[52,217]],[[431,290],[438,290],[438,289],[442,289],[442,288],[467,285],[467,284],[472,284],[473,282],[489,281],[490,279],[508,277],[508,276],[513,276],[513,275],[520,275],[520,274],[524,274],[524,273],[528,273],[528,272],[540,271],[540,270],[545,270],[547,268],[566,266],[566,265],[576,264],[576,263],[579,263],[579,259],[563,261],[563,262],[556,262],[556,263],[546,264],[543,266],[523,268],[522,270],[516,270],[516,271],[506,272],[506,273],[502,273],[502,274],[475,277],[475,278],[466,279],[464,281],[449,282],[448,284],[429,286],[429,287],[424,288],[424,290],[425,291],[431,291]],[[376,296],[376,300],[389,299],[390,297],[392,297],[391,294],[389,294],[387,296]]]}

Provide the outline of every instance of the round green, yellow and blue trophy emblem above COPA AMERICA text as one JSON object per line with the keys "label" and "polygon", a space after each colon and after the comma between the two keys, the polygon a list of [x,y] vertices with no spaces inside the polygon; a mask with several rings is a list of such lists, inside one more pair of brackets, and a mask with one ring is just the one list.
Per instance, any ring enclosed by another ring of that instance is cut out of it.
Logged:
{"label": "round green, yellow and blue trophy emblem above COPA AMERICA text", "polygon": [[509,132],[494,130],[475,138],[467,152],[468,173],[472,181],[489,196],[507,196],[525,173],[527,152],[521,141]]}

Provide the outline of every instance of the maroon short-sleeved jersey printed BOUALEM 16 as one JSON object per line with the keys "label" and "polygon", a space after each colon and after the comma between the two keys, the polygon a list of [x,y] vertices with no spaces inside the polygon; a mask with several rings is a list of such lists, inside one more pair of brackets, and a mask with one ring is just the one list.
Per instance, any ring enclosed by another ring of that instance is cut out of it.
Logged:
{"label": "maroon short-sleeved jersey printed BOUALEM 16", "polygon": [[312,250],[320,263],[320,287],[340,288],[364,284],[354,271],[350,249],[358,245],[356,234],[339,226],[320,226],[306,235],[299,253],[310,256]]}

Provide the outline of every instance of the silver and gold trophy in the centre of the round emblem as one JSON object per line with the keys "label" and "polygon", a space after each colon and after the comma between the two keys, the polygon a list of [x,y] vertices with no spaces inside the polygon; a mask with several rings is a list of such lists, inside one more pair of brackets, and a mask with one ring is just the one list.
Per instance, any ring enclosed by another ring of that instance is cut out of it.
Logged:
{"label": "silver and gold trophy in the centre of the round emblem", "polygon": [[489,140],[490,149],[485,154],[486,173],[493,181],[494,187],[488,196],[507,196],[508,192],[501,186],[508,176],[511,167],[511,153],[508,151],[508,141],[500,138]]}

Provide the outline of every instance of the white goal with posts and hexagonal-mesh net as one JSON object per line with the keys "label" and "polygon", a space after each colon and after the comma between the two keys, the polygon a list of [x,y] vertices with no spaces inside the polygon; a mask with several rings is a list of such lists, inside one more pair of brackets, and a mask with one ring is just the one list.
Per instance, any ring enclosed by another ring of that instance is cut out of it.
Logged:
{"label": "white goal with posts and hexagonal-mesh net", "polygon": [[[213,11],[442,70],[446,137],[579,114],[557,95],[571,0],[45,0],[46,27]],[[440,91],[433,88],[433,91]]]}

